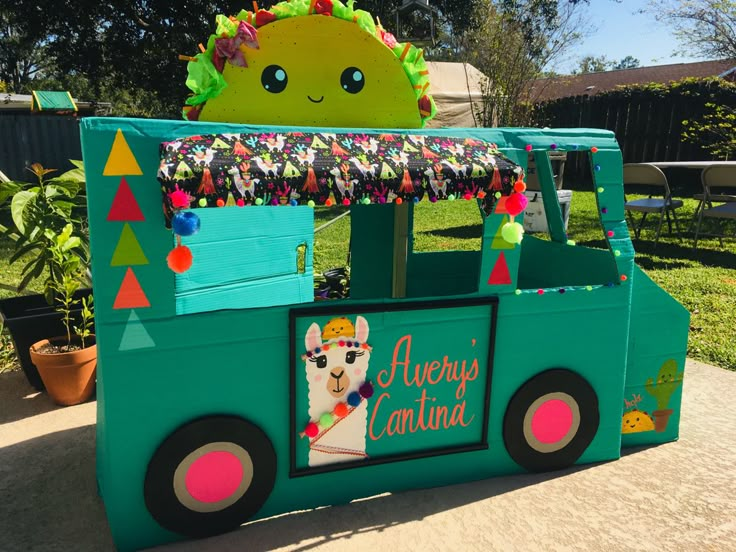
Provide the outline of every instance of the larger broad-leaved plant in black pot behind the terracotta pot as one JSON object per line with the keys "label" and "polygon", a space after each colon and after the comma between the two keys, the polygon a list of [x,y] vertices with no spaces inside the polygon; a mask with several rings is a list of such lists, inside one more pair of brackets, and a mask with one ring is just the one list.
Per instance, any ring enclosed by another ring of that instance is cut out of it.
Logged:
{"label": "larger broad-leaved plant in black pot behind the terracotta pot", "polygon": [[[50,243],[45,231],[52,230],[58,234],[69,223],[79,229],[77,234],[82,238],[79,247],[73,251],[85,267],[82,279],[86,279],[88,247],[82,216],[86,206],[85,175],[81,161],[72,161],[72,164],[75,169],[56,178],[48,178],[53,169],[35,163],[29,168],[35,176],[34,181],[0,182],[0,206],[10,200],[10,215],[15,227],[11,230],[0,226],[0,232],[15,242],[10,262],[25,262],[17,289],[19,293],[24,292],[33,280],[47,276],[55,281],[58,277],[50,270]],[[10,333],[20,366],[28,382],[39,391],[44,389],[43,381],[31,361],[29,347],[41,338],[64,331],[61,314],[52,304],[52,288],[45,286],[45,289],[47,293],[44,295],[24,294],[0,300],[0,318]],[[90,293],[88,286],[76,292],[75,299],[80,302],[75,304],[75,315],[79,314],[81,299]]]}

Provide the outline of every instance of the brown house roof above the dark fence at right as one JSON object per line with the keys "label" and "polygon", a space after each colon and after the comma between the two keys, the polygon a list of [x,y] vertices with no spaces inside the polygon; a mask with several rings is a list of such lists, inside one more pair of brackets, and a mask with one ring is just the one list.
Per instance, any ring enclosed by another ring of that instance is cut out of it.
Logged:
{"label": "brown house roof above the dark fence at right", "polygon": [[532,84],[529,95],[535,102],[543,102],[568,96],[592,96],[628,84],[648,82],[666,84],[687,77],[723,77],[736,80],[736,60],[722,59],[696,63],[674,63],[671,65],[537,79]]}

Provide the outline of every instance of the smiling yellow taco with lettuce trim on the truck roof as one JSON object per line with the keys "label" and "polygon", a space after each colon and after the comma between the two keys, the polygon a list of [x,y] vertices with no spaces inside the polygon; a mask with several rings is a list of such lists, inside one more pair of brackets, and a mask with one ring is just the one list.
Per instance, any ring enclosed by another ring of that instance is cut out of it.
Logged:
{"label": "smiling yellow taco with lettuce trim on the truck roof", "polygon": [[422,50],[353,0],[290,0],[217,16],[188,64],[189,120],[420,128],[435,112]]}

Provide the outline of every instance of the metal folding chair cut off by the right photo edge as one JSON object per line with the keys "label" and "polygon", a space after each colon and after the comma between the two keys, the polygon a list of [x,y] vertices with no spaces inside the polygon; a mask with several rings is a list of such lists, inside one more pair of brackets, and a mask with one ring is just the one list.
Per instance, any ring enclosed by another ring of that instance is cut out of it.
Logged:
{"label": "metal folding chair cut off by the right photo edge", "polygon": [[[701,180],[703,182],[703,198],[696,211],[697,224],[693,249],[698,248],[698,237],[701,235],[700,227],[704,217],[736,220],[736,166],[713,165],[703,171]],[[695,197],[697,198],[697,196]],[[719,203],[720,205],[713,206],[713,203]],[[702,235],[717,236],[721,247],[723,247],[723,232]]]}

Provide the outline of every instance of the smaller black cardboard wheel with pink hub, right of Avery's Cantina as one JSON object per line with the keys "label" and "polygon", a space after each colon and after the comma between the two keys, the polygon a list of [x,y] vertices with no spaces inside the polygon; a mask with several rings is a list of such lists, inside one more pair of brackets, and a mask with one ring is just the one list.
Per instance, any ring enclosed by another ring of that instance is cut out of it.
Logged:
{"label": "smaller black cardboard wheel with pink hub, right of Avery's Cantina", "polygon": [[555,368],[537,374],[509,401],[503,441],[511,458],[529,471],[574,464],[598,431],[598,396],[582,376]]}

